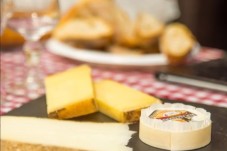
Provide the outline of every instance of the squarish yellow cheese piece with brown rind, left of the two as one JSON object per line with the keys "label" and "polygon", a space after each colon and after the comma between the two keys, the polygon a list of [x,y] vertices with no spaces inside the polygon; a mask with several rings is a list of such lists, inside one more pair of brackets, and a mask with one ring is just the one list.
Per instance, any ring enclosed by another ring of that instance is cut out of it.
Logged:
{"label": "squarish yellow cheese piece with brown rind, left of the two", "polygon": [[49,117],[66,119],[97,111],[87,65],[48,76],[45,86]]}

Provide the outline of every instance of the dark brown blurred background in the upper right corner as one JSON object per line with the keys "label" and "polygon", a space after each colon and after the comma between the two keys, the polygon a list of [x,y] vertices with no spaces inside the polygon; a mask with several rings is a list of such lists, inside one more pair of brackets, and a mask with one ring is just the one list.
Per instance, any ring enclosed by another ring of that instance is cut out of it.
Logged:
{"label": "dark brown blurred background in the upper right corner", "polygon": [[227,1],[178,0],[181,16],[203,46],[227,51]]}

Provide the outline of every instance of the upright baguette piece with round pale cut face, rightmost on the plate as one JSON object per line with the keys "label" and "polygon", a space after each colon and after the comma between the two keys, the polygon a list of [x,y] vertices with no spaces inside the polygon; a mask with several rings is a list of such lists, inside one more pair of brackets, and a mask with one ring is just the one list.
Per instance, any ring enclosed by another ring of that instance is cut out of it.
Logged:
{"label": "upright baguette piece with round pale cut face, rightmost on the plate", "polygon": [[177,65],[186,60],[195,44],[195,37],[185,25],[172,23],[164,30],[160,50],[167,56],[170,64]]}

